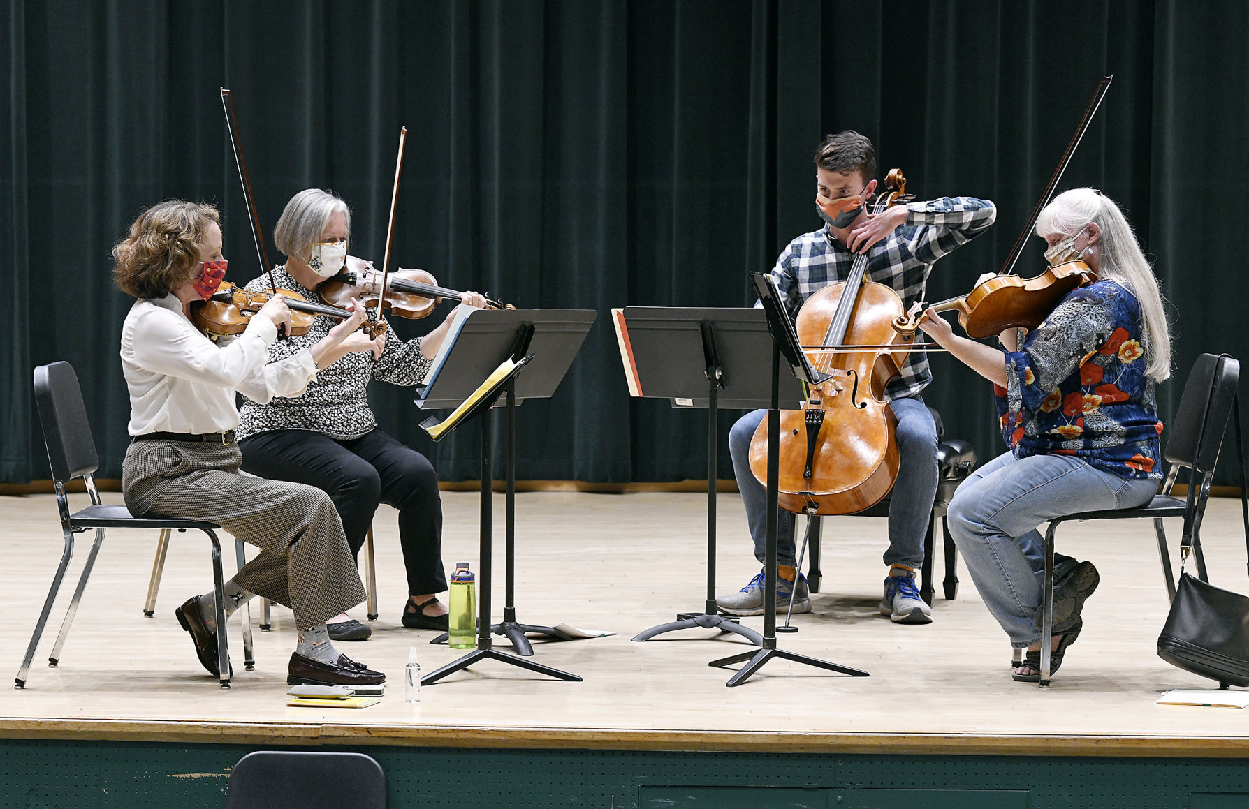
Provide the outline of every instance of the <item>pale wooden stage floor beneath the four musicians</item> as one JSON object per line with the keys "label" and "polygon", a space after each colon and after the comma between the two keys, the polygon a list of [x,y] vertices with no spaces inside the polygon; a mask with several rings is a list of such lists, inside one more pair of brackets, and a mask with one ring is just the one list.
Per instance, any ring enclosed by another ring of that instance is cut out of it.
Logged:
{"label": "pale wooden stage floor beneath the four musicians", "polygon": [[[81,503],[85,496],[75,496]],[[106,494],[120,502],[120,494]],[[495,618],[502,612],[502,497],[495,498]],[[477,569],[477,496],[445,493],[447,567]],[[719,591],[758,571],[741,499],[719,496]],[[782,648],[867,669],[847,678],[773,660],[749,682],[726,688],[729,672],[707,662],[748,649],[703,629],[631,643],[679,610],[698,609],[706,579],[706,496],[673,493],[517,496],[518,618],[567,622],[618,635],[535,643],[532,659],[585,678],[565,683],[501,663],[427,685],[418,707],[403,702],[408,647],[426,673],[460,653],[430,645],[432,632],[400,622],[403,574],[395,512],[376,521],[381,618],[352,657],[387,673],[390,693],[363,710],[287,708],[291,614],[256,633],[257,667],[241,670],[231,620],[234,688],[222,692],[199,665],[174,607],[211,584],[202,537],[174,534],[156,617],[141,610],[155,532],[116,531],[105,539],[60,668],[47,652],[86,556],[80,543],[61,598],[31,667],[27,688],[0,688],[0,737],[286,744],[416,744],[498,748],[620,748],[767,752],[1244,755],[1249,713],[1158,707],[1170,688],[1213,683],[1155,654],[1167,597],[1152,526],[1073,524],[1060,547],[1093,559],[1102,587],[1085,607],[1087,628],[1048,690],[1009,677],[1009,647],[982,606],[965,568],[957,601],[938,596],[934,623],[896,625],[877,613],[884,568],[883,519],[826,522],[824,592],[796,617]],[[1172,543],[1178,523],[1170,524]],[[1239,503],[1213,499],[1204,526],[1214,583],[1244,592]],[[230,543],[232,544],[232,543]],[[0,664],[16,674],[61,549],[51,496],[0,497]],[[232,569],[232,548],[226,574]],[[939,567],[939,563],[938,563]],[[365,609],[353,610],[363,618]],[[762,628],[762,618],[746,619]],[[726,639],[729,638],[729,639]],[[498,648],[508,649],[506,642]]]}

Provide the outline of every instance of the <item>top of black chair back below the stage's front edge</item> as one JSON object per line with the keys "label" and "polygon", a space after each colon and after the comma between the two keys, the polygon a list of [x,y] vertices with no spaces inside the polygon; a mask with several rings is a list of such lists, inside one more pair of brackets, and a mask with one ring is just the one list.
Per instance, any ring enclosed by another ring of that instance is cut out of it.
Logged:
{"label": "top of black chair back below the stage's front edge", "polygon": [[363,753],[256,750],[230,770],[226,809],[386,809],[386,773]]}

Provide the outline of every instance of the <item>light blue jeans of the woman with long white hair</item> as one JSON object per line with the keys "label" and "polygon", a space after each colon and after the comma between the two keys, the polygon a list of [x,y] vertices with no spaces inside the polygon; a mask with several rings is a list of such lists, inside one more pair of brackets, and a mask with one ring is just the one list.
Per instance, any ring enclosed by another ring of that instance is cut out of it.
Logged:
{"label": "light blue jeans of the woman with long white hair", "polygon": [[[1045,541],[1037,527],[1083,511],[1135,508],[1158,493],[1158,481],[1122,478],[1073,456],[1015,458],[1007,452],[977,469],[945,514],[975,589],[1010,637],[1025,648],[1040,640]],[[1054,576],[1075,561],[1054,556]]]}

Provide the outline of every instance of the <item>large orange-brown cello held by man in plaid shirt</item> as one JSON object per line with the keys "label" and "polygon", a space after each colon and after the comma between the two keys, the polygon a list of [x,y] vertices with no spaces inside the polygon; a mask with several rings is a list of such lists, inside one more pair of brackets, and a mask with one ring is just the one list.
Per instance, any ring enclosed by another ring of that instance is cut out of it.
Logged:
{"label": "large orange-brown cello held by man in plaid shirt", "polygon": [[[893,169],[878,215],[908,201],[906,177]],[[812,365],[832,375],[812,387],[802,409],[781,411],[779,506],[806,514],[851,514],[884,499],[898,477],[897,417],[884,387],[899,373],[914,332],[894,328],[906,317],[898,293],[866,281],[867,255],[854,256],[846,281],[802,305],[794,327]],[[861,346],[861,351],[854,347]],[[824,351],[824,347],[832,351]],[[768,422],[751,439],[751,472],[767,479]]]}

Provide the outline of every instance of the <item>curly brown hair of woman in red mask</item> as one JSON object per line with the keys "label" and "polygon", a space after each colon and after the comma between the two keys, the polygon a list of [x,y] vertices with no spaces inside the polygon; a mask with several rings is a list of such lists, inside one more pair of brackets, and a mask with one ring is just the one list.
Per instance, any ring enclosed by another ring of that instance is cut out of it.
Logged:
{"label": "curly brown hair of woman in red mask", "polygon": [[169,200],[144,210],[112,247],[117,286],[137,298],[159,298],[191,281],[210,222],[220,226],[221,216],[204,202]]}

